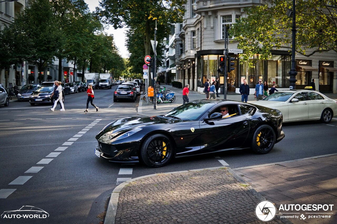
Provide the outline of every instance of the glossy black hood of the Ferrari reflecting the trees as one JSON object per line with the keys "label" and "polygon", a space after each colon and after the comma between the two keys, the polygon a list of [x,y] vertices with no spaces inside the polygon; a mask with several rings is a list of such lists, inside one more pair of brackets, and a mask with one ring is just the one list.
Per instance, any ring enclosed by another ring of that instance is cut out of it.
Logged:
{"label": "glossy black hood of the Ferrari reflecting the trees", "polygon": [[121,133],[127,132],[134,128],[144,128],[145,126],[156,125],[156,124],[171,124],[182,122],[182,120],[165,118],[163,116],[153,116],[153,117],[126,117],[116,120],[108,125],[106,125],[97,135],[96,139],[99,140],[100,137],[110,135],[116,136]]}

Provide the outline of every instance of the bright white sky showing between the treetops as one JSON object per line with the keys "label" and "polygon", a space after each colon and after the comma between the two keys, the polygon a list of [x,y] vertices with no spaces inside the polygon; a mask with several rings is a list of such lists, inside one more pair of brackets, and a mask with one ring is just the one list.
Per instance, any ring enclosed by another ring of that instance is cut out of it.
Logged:
{"label": "bright white sky showing between the treetops", "polygon": [[[84,1],[85,1],[85,3],[88,4],[88,7],[89,7],[90,11],[94,11],[95,7],[99,6],[98,0],[84,0]],[[105,32],[107,32],[108,34],[114,35],[114,41],[115,41],[116,46],[119,49],[119,52],[120,52],[121,56],[123,58],[129,58],[129,52],[128,52],[126,46],[125,46],[126,29],[115,30],[112,26],[107,26],[107,28],[105,29]]]}

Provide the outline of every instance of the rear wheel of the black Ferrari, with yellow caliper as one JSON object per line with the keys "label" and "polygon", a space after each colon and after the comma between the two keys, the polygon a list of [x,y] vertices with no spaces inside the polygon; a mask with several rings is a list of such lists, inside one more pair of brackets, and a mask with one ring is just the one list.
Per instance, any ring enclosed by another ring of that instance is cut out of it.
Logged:
{"label": "rear wheel of the black Ferrari, with yellow caliper", "polygon": [[275,132],[267,124],[259,126],[254,133],[251,148],[255,153],[268,153],[275,145]]}

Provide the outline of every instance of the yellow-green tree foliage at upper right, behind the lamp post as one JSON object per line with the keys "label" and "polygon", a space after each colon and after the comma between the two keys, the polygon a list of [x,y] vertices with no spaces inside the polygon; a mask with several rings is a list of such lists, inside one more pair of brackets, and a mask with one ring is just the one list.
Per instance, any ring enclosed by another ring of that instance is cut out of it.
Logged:
{"label": "yellow-green tree foliage at upper right, behind the lamp post", "polygon": [[[292,43],[292,0],[270,0],[268,5],[245,8],[247,17],[236,21],[230,35],[244,49],[243,61],[253,54],[269,59],[273,49],[289,49]],[[296,52],[310,57],[316,52],[336,51],[336,1],[296,0]]]}

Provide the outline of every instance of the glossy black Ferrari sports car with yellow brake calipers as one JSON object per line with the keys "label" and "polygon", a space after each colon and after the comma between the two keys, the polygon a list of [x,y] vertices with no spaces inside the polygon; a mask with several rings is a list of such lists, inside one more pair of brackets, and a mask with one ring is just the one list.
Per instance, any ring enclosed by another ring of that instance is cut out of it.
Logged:
{"label": "glossy black Ferrari sports car with yellow brake calipers", "polygon": [[[226,107],[228,116],[220,109]],[[237,101],[196,100],[165,115],[126,117],[97,135],[95,154],[110,161],[141,161],[150,167],[174,157],[234,149],[270,152],[284,138],[282,113]]]}

